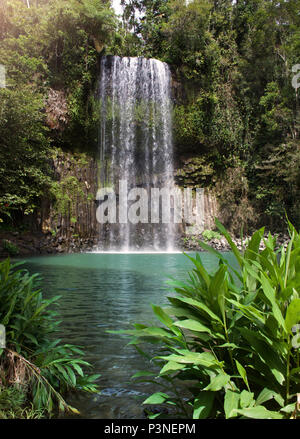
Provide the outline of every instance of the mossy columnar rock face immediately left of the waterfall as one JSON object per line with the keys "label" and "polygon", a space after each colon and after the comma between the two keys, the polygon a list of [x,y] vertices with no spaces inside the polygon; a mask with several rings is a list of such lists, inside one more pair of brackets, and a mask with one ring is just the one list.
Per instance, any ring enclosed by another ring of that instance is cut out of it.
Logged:
{"label": "mossy columnar rock face immediately left of the waterfall", "polygon": [[53,158],[57,183],[53,197],[43,201],[40,225],[43,233],[70,238],[99,234],[96,193],[99,163],[84,153],[57,152]]}

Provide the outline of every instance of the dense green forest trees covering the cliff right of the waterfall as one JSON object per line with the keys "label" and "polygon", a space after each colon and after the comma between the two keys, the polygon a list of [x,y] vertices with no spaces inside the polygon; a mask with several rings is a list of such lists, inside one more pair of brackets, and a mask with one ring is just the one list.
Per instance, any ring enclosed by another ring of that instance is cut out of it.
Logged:
{"label": "dense green forest trees covering the cliff right of the waterfall", "polygon": [[[300,58],[299,0],[123,4],[116,53],[153,56],[174,72],[176,151],[199,158],[193,175],[180,163],[179,183],[197,184],[198,175],[198,184],[222,183],[227,169],[241,161],[241,187],[247,187],[243,222],[251,226],[256,218],[256,224],[279,230],[287,211],[298,226],[299,105],[291,69]],[[126,44],[127,35],[139,45]],[[204,166],[212,170],[208,178],[202,178]],[[226,201],[224,194],[221,203]]]}

